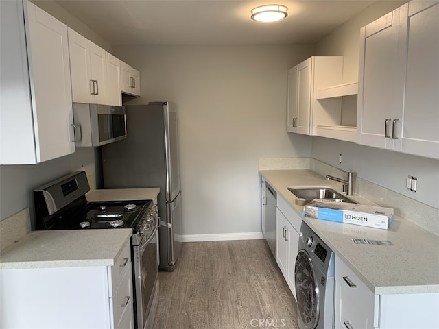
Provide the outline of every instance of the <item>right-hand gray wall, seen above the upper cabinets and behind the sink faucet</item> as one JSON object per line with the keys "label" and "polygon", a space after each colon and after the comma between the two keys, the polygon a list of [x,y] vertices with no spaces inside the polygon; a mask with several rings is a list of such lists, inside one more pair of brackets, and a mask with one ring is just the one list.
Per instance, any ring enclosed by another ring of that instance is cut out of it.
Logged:
{"label": "right-hand gray wall, seen above the upper cabinets and behind the sink faucet", "polygon": [[[317,55],[344,56],[344,82],[358,80],[359,29],[407,1],[378,1],[316,44]],[[339,164],[342,154],[342,164]],[[355,143],[313,137],[311,156],[334,167],[439,208],[439,161]],[[405,178],[418,178],[418,192],[405,188]],[[438,220],[438,219],[436,219]]]}

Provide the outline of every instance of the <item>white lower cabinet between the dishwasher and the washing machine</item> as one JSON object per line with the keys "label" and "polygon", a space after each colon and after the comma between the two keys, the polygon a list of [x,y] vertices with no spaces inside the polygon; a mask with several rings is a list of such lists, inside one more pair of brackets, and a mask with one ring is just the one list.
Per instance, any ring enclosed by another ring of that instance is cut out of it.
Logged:
{"label": "white lower cabinet between the dishwasher and the washing machine", "polygon": [[276,208],[276,263],[278,263],[289,289],[296,298],[294,265],[298,252],[302,219],[281,197]]}

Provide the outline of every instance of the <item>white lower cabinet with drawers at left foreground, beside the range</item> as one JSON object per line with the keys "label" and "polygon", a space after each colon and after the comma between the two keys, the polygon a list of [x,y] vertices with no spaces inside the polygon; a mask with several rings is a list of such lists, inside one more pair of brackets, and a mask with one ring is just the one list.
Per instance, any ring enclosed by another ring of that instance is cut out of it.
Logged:
{"label": "white lower cabinet with drawers at left foreground, beside the range", "polygon": [[132,329],[130,241],[113,266],[0,270],[0,328]]}

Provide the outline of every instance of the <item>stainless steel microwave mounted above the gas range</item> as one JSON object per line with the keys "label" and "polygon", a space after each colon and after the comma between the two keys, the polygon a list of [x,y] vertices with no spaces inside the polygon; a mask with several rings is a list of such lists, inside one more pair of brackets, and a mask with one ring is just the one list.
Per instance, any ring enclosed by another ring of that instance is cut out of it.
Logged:
{"label": "stainless steel microwave mounted above the gas range", "polygon": [[73,103],[76,146],[101,146],[126,138],[123,106]]}

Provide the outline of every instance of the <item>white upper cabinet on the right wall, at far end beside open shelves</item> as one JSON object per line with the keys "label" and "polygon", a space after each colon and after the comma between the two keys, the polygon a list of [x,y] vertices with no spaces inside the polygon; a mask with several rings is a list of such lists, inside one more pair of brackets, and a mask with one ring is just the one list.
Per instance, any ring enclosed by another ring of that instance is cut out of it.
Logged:
{"label": "white upper cabinet on the right wall, at far end beside open shelves", "polygon": [[[288,71],[287,132],[313,135],[320,121],[327,123],[331,119],[333,111],[327,108],[328,104],[323,106],[315,94],[317,90],[341,84],[342,74],[341,56],[314,56]],[[340,108],[340,101],[337,104]]]}

